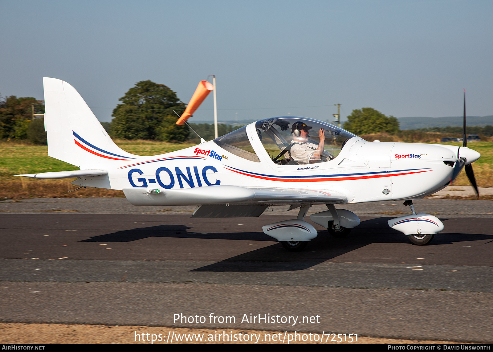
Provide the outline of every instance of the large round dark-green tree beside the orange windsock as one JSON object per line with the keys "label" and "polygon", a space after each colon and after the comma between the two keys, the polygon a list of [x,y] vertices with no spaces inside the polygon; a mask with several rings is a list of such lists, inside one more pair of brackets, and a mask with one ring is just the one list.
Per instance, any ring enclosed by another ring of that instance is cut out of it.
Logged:
{"label": "large round dark-green tree beside the orange windsock", "polygon": [[150,80],[137,82],[119,99],[113,110],[111,135],[128,140],[146,139],[161,141],[184,141],[189,134],[187,125],[176,125],[185,110],[176,92],[164,84]]}

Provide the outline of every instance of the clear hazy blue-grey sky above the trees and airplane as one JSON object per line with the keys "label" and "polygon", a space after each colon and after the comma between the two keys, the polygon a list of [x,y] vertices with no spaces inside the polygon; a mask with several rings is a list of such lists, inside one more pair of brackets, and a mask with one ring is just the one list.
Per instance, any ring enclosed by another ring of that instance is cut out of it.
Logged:
{"label": "clear hazy blue-grey sky above the trees and airplane", "polygon": [[[0,0],[0,93],[69,82],[102,121],[136,82],[185,103],[217,77],[219,120],[493,114],[493,1]],[[212,95],[190,122],[211,120]]]}

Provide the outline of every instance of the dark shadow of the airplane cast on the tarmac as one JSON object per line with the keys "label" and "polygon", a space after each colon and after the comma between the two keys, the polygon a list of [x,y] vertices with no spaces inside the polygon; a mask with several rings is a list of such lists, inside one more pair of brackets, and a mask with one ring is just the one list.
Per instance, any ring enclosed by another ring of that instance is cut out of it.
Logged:
{"label": "dark shadow of the airplane cast on the tarmac", "polygon": [[[311,241],[305,251],[289,252],[279,243],[271,246],[254,249],[217,263],[193,269],[195,272],[276,272],[305,270],[319,263],[331,260],[337,256],[349,253],[352,250],[375,243],[404,243],[409,245],[410,251],[422,246],[413,246],[407,237],[387,226],[391,217],[380,217],[361,222],[353,229],[347,238],[334,238],[326,231],[319,230],[318,237]],[[441,219],[446,221],[447,219]],[[234,233],[194,233],[189,232],[185,225],[159,225],[118,231],[101,236],[91,237],[80,242],[131,242],[147,237],[162,238],[194,238],[219,240],[269,241],[271,237],[261,232],[234,232]],[[452,245],[455,242],[484,241],[493,239],[485,234],[440,233],[428,247],[438,245]],[[493,240],[492,240],[493,241]]]}

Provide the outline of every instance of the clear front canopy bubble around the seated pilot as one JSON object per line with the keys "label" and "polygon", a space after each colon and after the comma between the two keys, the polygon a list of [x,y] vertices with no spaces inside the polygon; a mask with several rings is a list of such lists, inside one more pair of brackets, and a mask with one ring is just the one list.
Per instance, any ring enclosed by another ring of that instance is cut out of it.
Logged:
{"label": "clear front canopy bubble around the seated pilot", "polygon": [[257,121],[255,127],[265,150],[280,165],[330,161],[346,141],[356,137],[329,123],[304,117],[274,117]]}

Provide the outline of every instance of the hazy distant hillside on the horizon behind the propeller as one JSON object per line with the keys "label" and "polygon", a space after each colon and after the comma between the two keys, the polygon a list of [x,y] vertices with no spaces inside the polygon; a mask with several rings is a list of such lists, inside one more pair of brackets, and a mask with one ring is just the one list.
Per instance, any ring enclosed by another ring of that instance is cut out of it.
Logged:
{"label": "hazy distant hillside on the horizon behind the propeller", "polygon": [[[415,130],[426,127],[460,127],[462,126],[462,116],[451,117],[399,117],[399,128],[401,130]],[[490,116],[467,116],[467,126],[487,125],[493,126],[493,115]]]}

